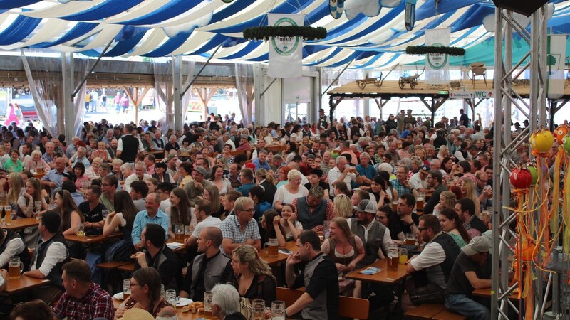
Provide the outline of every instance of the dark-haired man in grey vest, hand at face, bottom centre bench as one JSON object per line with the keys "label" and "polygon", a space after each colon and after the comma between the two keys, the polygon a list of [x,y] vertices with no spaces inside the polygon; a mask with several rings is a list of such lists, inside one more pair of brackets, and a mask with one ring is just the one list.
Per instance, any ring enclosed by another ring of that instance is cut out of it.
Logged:
{"label": "dark-haired man in grey vest, hand at face, bottom centre bench", "polygon": [[[303,319],[338,319],[338,272],[330,257],[321,252],[321,240],[314,230],[297,238],[297,252],[287,257],[285,279],[289,289],[305,287],[299,299],[285,309],[285,318],[301,312]],[[294,272],[301,265],[301,273]]]}

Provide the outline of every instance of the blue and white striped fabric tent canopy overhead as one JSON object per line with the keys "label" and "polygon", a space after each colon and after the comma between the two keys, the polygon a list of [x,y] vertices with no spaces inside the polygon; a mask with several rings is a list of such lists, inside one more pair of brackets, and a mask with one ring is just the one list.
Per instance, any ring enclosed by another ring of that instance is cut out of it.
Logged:
{"label": "blue and white striped fabric tent canopy overhead", "polygon": [[[570,0],[550,2],[549,32],[569,33]],[[492,1],[418,0],[412,31],[405,29],[404,9],[405,0],[346,0],[345,13],[335,20],[328,0],[0,0],[0,49],[98,56],[113,41],[105,56],[206,58],[222,44],[216,59],[264,62],[268,43],[247,41],[242,31],[264,26],[266,14],[279,13],[305,14],[305,25],[328,31],[322,41],[305,42],[304,65],[339,67],[353,61],[351,68],[388,68],[414,63],[422,58],[406,55],[405,47],[422,45],[426,29],[442,27],[451,28],[451,46],[467,50],[452,64],[493,64]]]}

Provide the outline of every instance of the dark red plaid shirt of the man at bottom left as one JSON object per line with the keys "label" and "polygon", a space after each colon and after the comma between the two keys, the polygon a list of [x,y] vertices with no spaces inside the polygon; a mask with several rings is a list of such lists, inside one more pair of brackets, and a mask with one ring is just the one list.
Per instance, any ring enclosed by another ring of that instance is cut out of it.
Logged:
{"label": "dark red plaid shirt of the man at bottom left", "polygon": [[53,308],[53,314],[59,319],[67,317],[68,320],[84,320],[94,318],[113,319],[115,309],[113,299],[99,284],[91,283],[86,294],[77,299],[64,293]]}

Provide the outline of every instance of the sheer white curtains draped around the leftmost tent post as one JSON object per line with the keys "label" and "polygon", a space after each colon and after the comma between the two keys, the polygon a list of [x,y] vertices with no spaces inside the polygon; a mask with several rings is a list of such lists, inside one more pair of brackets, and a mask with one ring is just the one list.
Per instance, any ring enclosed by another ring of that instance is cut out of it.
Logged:
{"label": "sheer white curtains draped around the leftmost tent post", "polygon": [[[61,73],[45,72],[45,70],[61,70],[60,57],[39,57],[34,56],[37,51],[33,49],[21,50],[22,60],[28,63],[29,72],[26,72],[30,92],[36,105],[38,117],[43,123],[43,127],[51,134],[57,137],[58,134],[65,134],[66,124],[63,112],[63,82]],[[87,58],[73,59],[73,85],[74,88],[79,85],[83,77],[88,71]],[[81,90],[78,91],[73,107],[76,112],[75,123],[72,124],[76,134],[81,132],[83,126],[83,115],[85,114],[85,96],[87,82],[83,84]],[[60,114],[58,114],[58,106],[61,106]],[[61,121],[58,121],[61,120]],[[71,137],[67,137],[71,139]]]}

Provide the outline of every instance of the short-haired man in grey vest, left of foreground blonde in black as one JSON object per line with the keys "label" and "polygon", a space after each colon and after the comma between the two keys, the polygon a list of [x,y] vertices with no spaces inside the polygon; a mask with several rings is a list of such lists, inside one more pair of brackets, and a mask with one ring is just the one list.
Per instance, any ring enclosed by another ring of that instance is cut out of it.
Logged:
{"label": "short-haired man in grey vest, left of foreground blonde in black", "polygon": [[[222,230],[217,227],[200,231],[197,244],[198,252],[202,252],[202,255],[195,257],[188,266],[180,297],[203,301],[204,292],[212,290],[214,285],[232,281],[232,260],[219,250],[222,240]],[[204,277],[206,274],[207,277]]]}

